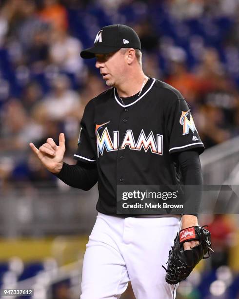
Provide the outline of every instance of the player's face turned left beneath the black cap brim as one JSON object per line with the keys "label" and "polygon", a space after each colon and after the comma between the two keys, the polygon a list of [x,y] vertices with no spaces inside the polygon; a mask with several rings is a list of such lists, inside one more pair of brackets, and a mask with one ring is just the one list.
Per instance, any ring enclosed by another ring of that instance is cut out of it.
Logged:
{"label": "player's face turned left beneath the black cap brim", "polygon": [[106,85],[118,85],[124,73],[125,60],[124,55],[120,52],[109,54],[96,54],[96,67],[100,69],[100,74],[105,80]]}

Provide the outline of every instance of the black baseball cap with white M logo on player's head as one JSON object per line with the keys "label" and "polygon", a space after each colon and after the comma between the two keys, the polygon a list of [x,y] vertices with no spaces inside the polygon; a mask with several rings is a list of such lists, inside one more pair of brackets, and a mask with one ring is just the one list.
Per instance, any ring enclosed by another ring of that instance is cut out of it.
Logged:
{"label": "black baseball cap with white M logo on player's head", "polygon": [[141,43],[135,30],[121,24],[105,26],[96,35],[94,46],[80,52],[82,58],[94,58],[95,54],[108,54],[120,48],[141,50]]}

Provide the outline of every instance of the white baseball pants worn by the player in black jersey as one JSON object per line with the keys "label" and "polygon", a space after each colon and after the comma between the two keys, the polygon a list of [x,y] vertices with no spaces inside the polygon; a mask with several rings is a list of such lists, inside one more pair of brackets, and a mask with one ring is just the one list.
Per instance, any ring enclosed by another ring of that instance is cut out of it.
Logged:
{"label": "white baseball pants worn by the player in black jersey", "polygon": [[131,281],[136,299],[175,299],[165,281],[168,252],[180,217],[141,218],[99,213],[83,261],[80,299],[119,299]]}

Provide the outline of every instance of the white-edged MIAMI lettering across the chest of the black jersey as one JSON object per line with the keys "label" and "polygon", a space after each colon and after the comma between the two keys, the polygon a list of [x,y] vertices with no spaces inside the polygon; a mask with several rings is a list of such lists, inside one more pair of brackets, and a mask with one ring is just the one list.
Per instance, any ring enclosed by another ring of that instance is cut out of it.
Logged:
{"label": "white-edged MIAMI lettering across the chest of the black jersey", "polygon": [[100,154],[103,155],[104,149],[106,149],[106,151],[113,151],[118,149],[125,149],[126,147],[133,150],[143,149],[145,152],[150,149],[152,153],[162,155],[163,136],[157,134],[155,138],[152,131],[148,136],[146,136],[142,129],[139,134],[138,140],[135,141],[133,131],[127,130],[121,146],[119,146],[119,131],[114,131],[111,138],[108,128],[104,128],[101,135],[99,133],[99,130],[96,130],[96,139],[98,157]]}

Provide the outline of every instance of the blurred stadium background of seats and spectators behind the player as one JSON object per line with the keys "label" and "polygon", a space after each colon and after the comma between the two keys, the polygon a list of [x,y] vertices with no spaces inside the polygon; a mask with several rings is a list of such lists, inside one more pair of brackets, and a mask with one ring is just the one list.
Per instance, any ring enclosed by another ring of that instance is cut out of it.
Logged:
{"label": "blurred stadium background of seats and spectators behind the player", "polygon": [[[74,164],[84,106],[106,88],[94,60],[79,53],[112,23],[137,31],[146,75],[188,101],[206,147],[204,183],[239,182],[239,0],[1,0],[1,288],[79,298],[97,187],[69,188],[28,143],[63,131],[65,161]],[[210,224],[215,253],[180,283],[177,299],[239,298],[239,216],[199,220]],[[129,286],[122,299],[133,298]]]}

